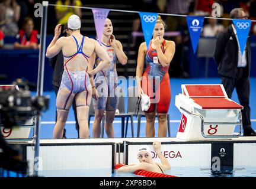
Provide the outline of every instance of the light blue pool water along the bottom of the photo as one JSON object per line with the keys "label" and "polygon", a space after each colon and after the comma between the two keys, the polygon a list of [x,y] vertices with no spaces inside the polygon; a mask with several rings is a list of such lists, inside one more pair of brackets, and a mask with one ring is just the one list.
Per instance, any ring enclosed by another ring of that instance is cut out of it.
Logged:
{"label": "light blue pool water along the bottom of the photo", "polygon": [[[165,174],[177,177],[256,177],[256,167],[233,167],[224,171],[212,171],[206,167],[172,167]],[[21,177],[15,172],[9,172],[4,177]],[[51,170],[39,171],[39,177],[143,177],[127,172],[117,172],[111,169],[94,170]]]}

